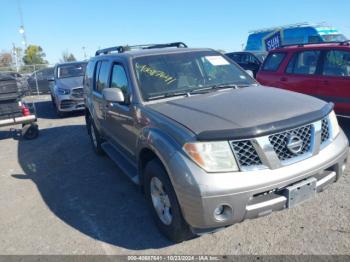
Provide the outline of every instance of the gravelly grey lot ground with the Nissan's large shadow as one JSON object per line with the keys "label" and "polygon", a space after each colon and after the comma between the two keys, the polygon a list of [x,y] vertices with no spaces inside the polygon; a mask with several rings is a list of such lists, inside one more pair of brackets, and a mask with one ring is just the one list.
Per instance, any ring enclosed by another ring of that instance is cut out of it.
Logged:
{"label": "gravelly grey lot ground with the Nissan's large shadow", "polygon": [[[36,104],[38,139],[0,129],[0,254],[350,254],[349,171],[293,209],[175,245],[137,187],[93,153],[84,117]],[[349,136],[350,120],[341,125]]]}

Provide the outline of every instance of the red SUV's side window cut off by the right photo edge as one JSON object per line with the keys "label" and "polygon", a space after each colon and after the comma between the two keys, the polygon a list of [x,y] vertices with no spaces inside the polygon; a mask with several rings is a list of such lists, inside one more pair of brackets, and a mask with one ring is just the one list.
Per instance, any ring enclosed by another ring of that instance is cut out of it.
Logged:
{"label": "red SUV's side window cut off by the right photo edge", "polygon": [[326,76],[350,76],[350,52],[342,50],[331,50],[327,53],[323,75]]}

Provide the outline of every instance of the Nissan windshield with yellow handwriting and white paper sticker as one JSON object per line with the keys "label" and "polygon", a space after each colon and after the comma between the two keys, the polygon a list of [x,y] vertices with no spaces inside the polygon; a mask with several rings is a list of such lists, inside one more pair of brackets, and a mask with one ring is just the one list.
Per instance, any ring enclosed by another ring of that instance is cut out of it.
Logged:
{"label": "Nissan windshield with yellow handwriting and white paper sticker", "polygon": [[245,71],[214,51],[139,57],[134,59],[134,68],[145,100],[211,86],[256,83]]}

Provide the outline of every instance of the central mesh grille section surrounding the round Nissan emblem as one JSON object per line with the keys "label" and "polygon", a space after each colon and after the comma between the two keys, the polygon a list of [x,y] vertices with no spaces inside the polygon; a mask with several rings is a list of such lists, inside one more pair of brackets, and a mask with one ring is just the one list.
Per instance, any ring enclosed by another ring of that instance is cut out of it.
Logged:
{"label": "central mesh grille section surrounding the round Nissan emblem", "polygon": [[[288,139],[292,135],[298,136],[303,141],[302,149],[297,154],[292,153],[287,148]],[[281,161],[303,155],[311,149],[311,125],[271,135],[269,136],[269,140]]]}

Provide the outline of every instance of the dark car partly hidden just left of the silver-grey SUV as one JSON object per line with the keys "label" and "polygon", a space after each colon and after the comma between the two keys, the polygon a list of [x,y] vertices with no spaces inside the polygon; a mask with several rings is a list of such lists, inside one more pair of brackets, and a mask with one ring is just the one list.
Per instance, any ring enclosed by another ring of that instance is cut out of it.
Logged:
{"label": "dark car partly hidden just left of the silver-grey SUV", "polygon": [[48,79],[53,78],[53,67],[40,69],[32,73],[28,78],[28,85],[32,94],[50,93],[50,82]]}

